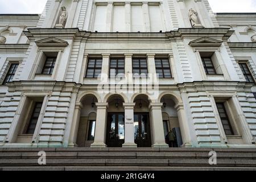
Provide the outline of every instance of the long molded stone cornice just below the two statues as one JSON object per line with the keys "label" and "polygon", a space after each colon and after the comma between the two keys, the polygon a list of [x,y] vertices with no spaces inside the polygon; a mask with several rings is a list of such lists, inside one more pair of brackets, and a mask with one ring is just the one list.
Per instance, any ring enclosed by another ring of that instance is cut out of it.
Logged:
{"label": "long molded stone cornice just below the two statues", "polygon": [[46,39],[49,37],[59,39],[183,39],[212,37],[228,39],[234,31],[229,28],[179,28],[170,32],[87,32],[79,28],[29,28],[24,34],[30,40]]}

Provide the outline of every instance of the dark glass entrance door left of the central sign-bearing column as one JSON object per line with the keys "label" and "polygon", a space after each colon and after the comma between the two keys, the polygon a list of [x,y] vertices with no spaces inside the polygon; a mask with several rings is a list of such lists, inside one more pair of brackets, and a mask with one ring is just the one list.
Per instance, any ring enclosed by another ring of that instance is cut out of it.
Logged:
{"label": "dark glass entrance door left of the central sign-bearing column", "polygon": [[106,144],[108,147],[122,147],[125,143],[125,114],[109,113]]}

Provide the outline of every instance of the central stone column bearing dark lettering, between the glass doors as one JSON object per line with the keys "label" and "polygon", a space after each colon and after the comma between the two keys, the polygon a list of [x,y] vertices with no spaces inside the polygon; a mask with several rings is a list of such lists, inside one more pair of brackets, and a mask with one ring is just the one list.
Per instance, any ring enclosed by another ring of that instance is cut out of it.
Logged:
{"label": "central stone column bearing dark lettering, between the glass doors", "polygon": [[134,143],[134,106],[135,103],[123,103],[125,109],[125,143],[123,147],[137,147]]}

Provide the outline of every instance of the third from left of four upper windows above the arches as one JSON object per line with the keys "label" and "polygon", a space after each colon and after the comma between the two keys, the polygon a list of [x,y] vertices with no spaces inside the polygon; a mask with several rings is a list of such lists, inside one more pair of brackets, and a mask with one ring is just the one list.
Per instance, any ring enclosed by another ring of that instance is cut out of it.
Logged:
{"label": "third from left of four upper windows above the arches", "polygon": [[133,75],[140,77],[147,77],[147,59],[134,58],[133,59]]}

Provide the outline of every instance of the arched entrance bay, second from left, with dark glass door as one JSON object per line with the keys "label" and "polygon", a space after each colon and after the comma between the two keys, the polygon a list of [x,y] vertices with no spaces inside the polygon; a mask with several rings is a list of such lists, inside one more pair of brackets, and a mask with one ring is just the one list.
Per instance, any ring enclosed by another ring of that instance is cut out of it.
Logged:
{"label": "arched entrance bay, second from left, with dark glass door", "polygon": [[122,144],[125,143],[124,100],[118,94],[114,94],[108,98],[107,102],[106,145],[108,147],[122,147]]}

